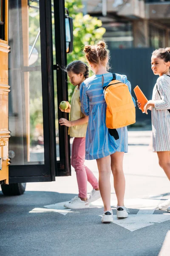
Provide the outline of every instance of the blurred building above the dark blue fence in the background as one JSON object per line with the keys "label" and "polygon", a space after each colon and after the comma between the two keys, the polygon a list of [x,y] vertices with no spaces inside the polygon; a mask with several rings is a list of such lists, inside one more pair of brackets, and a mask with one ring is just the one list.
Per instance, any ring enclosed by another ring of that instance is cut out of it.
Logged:
{"label": "blurred building above the dark blue fence in the background", "polygon": [[170,45],[170,1],[83,1],[84,13],[95,15],[106,28],[110,49]]}

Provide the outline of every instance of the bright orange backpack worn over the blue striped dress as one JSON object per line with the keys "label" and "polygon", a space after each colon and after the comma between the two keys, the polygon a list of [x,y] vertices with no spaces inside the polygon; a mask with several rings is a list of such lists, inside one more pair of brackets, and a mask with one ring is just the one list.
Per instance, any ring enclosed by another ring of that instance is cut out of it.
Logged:
{"label": "bright orange backpack worn over the blue striped dress", "polygon": [[[102,76],[102,85],[104,77]],[[121,128],[136,122],[135,105],[127,84],[116,80],[113,73],[112,81],[103,87],[106,110],[106,127],[109,129]]]}

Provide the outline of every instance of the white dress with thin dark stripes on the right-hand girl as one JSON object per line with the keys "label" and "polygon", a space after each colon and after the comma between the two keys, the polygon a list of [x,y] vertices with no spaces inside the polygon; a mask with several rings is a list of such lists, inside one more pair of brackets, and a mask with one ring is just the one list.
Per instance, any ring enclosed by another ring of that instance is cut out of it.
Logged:
{"label": "white dress with thin dark stripes on the right-hand girl", "polygon": [[[156,89],[156,84],[158,90]],[[155,108],[152,108],[153,152],[170,151],[170,77],[160,76],[153,88],[152,100]]]}

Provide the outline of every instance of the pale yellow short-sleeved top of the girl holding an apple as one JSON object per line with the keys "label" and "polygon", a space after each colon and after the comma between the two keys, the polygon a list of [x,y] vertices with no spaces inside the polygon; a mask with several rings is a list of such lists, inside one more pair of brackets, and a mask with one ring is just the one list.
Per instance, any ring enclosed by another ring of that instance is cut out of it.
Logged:
{"label": "pale yellow short-sleeved top of the girl holding an apple", "polygon": [[[80,103],[80,91],[78,85],[74,89],[73,96],[71,98],[71,112],[70,112],[70,121],[74,121],[84,117],[85,115],[81,112],[81,103]],[[83,125],[75,125],[68,128],[68,134],[71,137],[85,137],[87,130],[88,122]]]}

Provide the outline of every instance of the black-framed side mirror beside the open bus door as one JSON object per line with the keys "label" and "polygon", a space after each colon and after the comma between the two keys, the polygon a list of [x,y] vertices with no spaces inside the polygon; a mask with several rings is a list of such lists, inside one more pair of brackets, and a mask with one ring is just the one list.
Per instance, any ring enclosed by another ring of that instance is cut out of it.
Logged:
{"label": "black-framed side mirror beside the open bus door", "polygon": [[66,52],[73,50],[73,19],[65,17],[65,38],[66,38]]}

